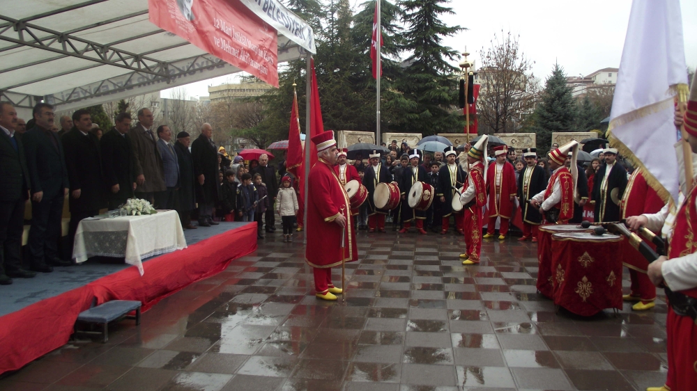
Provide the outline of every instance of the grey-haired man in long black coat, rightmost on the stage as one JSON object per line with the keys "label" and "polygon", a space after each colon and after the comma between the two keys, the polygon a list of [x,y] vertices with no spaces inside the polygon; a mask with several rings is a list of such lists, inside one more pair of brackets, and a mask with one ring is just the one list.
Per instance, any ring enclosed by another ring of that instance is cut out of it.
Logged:
{"label": "grey-haired man in long black coat, rightmost on the stage", "polygon": [[191,143],[191,157],[196,177],[196,200],[199,202],[199,226],[217,225],[213,221],[213,208],[220,199],[218,191],[217,148],[213,143],[213,128],[210,124],[201,127],[199,138]]}

